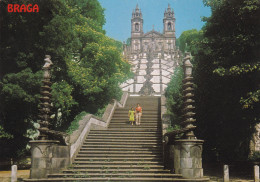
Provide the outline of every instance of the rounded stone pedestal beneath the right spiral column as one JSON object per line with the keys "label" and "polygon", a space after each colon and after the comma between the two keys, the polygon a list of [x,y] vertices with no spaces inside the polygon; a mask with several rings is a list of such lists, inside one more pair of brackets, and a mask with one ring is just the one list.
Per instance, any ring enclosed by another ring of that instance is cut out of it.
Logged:
{"label": "rounded stone pedestal beneath the right spiral column", "polygon": [[176,140],[174,153],[174,171],[184,178],[202,178],[202,144],[203,140]]}

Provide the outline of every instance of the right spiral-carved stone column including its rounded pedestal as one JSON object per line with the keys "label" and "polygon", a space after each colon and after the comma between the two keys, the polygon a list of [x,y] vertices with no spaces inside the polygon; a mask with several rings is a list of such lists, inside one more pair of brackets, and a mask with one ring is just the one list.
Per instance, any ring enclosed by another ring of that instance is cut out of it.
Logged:
{"label": "right spiral-carved stone column including its rounded pedestal", "polygon": [[182,174],[184,178],[202,178],[202,144],[203,140],[198,140],[193,130],[196,121],[193,103],[193,82],[192,64],[190,63],[190,53],[186,53],[184,62],[183,79],[183,122],[181,123],[185,131],[181,139],[174,141],[174,171]]}

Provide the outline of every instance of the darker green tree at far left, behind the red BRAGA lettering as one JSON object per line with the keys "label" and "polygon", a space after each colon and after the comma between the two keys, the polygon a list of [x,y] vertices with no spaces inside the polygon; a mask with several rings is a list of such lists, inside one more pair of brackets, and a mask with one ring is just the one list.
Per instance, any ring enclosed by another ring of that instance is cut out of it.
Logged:
{"label": "darker green tree at far left, behind the red BRAGA lettering", "polygon": [[[1,1],[0,125],[12,140],[1,140],[1,156],[16,156],[28,142],[27,129],[37,120],[41,67],[45,54],[52,55],[56,80],[66,77],[64,58],[72,52],[73,33],[64,16],[69,12],[62,1],[12,1],[37,3],[39,13],[8,13]],[[58,16],[59,15],[59,16]],[[55,30],[55,31],[54,31]],[[55,80],[55,79],[54,79]]]}

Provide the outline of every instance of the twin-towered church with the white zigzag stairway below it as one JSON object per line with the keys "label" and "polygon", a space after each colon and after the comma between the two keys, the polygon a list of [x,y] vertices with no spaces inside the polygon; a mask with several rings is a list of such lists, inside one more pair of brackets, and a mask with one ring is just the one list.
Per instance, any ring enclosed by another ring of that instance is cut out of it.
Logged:
{"label": "twin-towered church with the white zigzag stairway below it", "polygon": [[170,5],[165,9],[163,33],[143,32],[143,16],[138,5],[131,19],[131,44],[124,44],[124,56],[132,64],[134,78],[121,85],[131,95],[161,95],[180,63],[176,48],[175,17]]}

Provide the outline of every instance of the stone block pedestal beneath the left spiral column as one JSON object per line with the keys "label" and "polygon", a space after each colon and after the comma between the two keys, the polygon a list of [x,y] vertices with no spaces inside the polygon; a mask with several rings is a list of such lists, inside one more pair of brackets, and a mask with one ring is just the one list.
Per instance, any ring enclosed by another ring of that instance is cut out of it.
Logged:
{"label": "stone block pedestal beneath the left spiral column", "polygon": [[69,146],[60,146],[56,140],[35,140],[31,144],[30,178],[45,178],[70,164]]}

